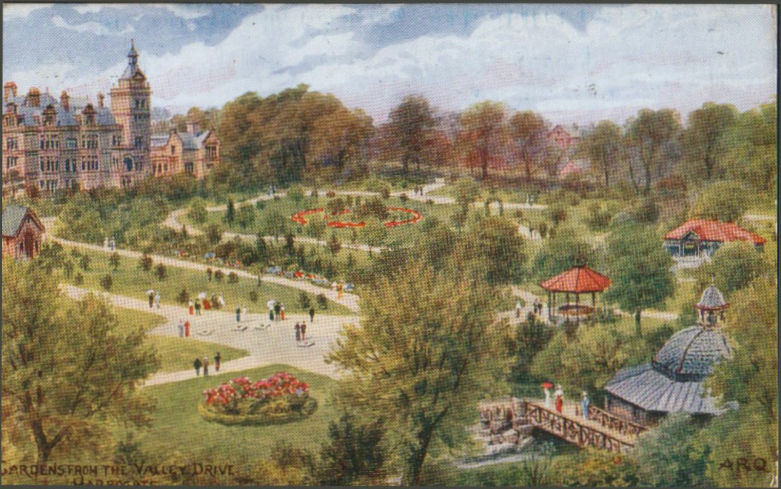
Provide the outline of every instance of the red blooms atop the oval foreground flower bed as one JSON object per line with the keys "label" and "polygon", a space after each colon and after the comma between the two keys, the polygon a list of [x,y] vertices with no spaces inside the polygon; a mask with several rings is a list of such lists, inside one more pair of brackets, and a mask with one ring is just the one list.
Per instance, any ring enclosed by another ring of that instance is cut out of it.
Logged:
{"label": "red blooms atop the oval foreground flower bed", "polygon": [[206,405],[223,407],[235,411],[242,399],[271,399],[284,395],[305,396],[309,385],[296,379],[290,373],[277,372],[268,379],[251,382],[247,377],[236,377],[216,389],[206,389],[203,394]]}

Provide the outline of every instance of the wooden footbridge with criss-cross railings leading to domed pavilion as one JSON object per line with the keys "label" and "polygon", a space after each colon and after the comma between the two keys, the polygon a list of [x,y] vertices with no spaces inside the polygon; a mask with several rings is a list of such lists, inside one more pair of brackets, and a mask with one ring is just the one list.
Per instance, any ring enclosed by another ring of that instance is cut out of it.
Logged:
{"label": "wooden footbridge with criss-cross railings leading to domed pavilion", "polygon": [[634,448],[637,436],[648,430],[592,405],[588,407],[587,419],[583,419],[578,404],[567,403],[562,412],[557,412],[542,402],[522,399],[484,402],[480,411],[489,423],[498,420],[512,427],[530,425],[580,448],[596,447],[619,453]]}

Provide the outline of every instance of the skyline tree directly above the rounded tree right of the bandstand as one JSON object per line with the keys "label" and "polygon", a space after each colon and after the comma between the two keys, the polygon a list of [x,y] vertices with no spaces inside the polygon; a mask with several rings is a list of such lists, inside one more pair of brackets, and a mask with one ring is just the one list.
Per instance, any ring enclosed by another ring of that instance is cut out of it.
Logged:
{"label": "skyline tree directly above the rounded tree right of the bandstand", "polygon": [[629,121],[626,135],[645,171],[645,191],[651,191],[653,173],[665,169],[665,149],[676,141],[681,130],[680,116],[672,109],[640,109]]}

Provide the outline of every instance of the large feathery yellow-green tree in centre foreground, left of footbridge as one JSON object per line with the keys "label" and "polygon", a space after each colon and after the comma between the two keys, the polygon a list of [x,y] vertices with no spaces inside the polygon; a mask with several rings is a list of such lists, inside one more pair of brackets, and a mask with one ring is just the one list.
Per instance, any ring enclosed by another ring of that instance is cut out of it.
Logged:
{"label": "large feathery yellow-green tree in centre foreground, left of footbridge", "polygon": [[502,387],[506,338],[486,313],[492,297],[482,280],[412,264],[362,294],[359,325],[328,356],[347,373],[344,402],[384,414],[407,484],[419,484],[430,450],[467,440],[475,398]]}

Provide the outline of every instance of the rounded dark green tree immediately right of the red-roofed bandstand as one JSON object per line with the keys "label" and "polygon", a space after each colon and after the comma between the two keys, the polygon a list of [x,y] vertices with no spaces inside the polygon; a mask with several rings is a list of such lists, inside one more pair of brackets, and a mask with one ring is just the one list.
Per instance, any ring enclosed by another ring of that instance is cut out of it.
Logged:
{"label": "rounded dark green tree immediately right of the red-roofed bandstand", "polygon": [[638,336],[643,309],[662,305],[675,290],[672,259],[661,242],[653,230],[631,223],[608,235],[608,277],[613,283],[604,298],[634,312]]}

